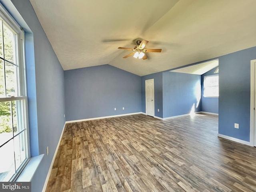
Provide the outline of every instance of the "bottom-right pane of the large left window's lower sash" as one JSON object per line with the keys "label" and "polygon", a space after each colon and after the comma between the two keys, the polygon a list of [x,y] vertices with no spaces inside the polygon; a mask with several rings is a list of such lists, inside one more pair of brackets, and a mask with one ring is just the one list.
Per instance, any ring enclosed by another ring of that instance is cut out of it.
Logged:
{"label": "bottom-right pane of the large left window's lower sash", "polygon": [[24,132],[14,137],[14,152],[15,152],[16,170],[18,170],[22,162],[26,159]]}

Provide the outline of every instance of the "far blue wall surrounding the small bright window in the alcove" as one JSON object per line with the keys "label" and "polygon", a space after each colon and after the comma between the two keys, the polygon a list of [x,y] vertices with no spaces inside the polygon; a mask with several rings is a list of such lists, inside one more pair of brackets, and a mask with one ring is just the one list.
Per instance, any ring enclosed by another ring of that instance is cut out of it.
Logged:
{"label": "far blue wall surrounding the small bright window in the alcove", "polygon": [[[216,67],[217,68],[217,67]],[[209,75],[216,75],[214,73],[216,68],[202,74],[202,111],[210,113],[219,113],[219,98],[218,97],[204,97],[204,77]]]}

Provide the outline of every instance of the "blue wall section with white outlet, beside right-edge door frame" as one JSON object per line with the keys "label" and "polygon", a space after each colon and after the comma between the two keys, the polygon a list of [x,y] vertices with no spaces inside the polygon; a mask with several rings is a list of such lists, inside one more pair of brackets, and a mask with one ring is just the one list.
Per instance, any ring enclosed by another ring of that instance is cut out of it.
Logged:
{"label": "blue wall section with white outlet, beside right-edge door frame", "polygon": [[[256,47],[219,57],[219,133],[250,141],[250,61]],[[239,129],[234,128],[239,124]]]}

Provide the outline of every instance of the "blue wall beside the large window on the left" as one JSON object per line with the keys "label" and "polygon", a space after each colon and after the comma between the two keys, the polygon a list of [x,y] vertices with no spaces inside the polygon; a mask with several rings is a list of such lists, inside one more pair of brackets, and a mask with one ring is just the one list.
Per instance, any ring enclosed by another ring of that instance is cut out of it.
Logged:
{"label": "blue wall beside the large window on the left", "polygon": [[[5,0],[2,3],[26,28],[31,155],[45,154],[49,147],[49,155],[44,156],[32,179],[32,192],[38,192],[42,191],[65,123],[64,71],[29,0]],[[12,9],[13,5],[21,16]]]}

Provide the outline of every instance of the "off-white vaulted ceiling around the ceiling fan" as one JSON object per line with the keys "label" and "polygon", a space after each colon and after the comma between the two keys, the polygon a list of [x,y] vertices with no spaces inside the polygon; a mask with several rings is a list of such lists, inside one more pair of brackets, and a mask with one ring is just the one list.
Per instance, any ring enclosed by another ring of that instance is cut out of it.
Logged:
{"label": "off-white vaulted ceiling around the ceiling fan", "polygon": [[[30,0],[64,70],[110,64],[139,76],[256,46],[256,0]],[[122,57],[137,39],[148,59]]]}

